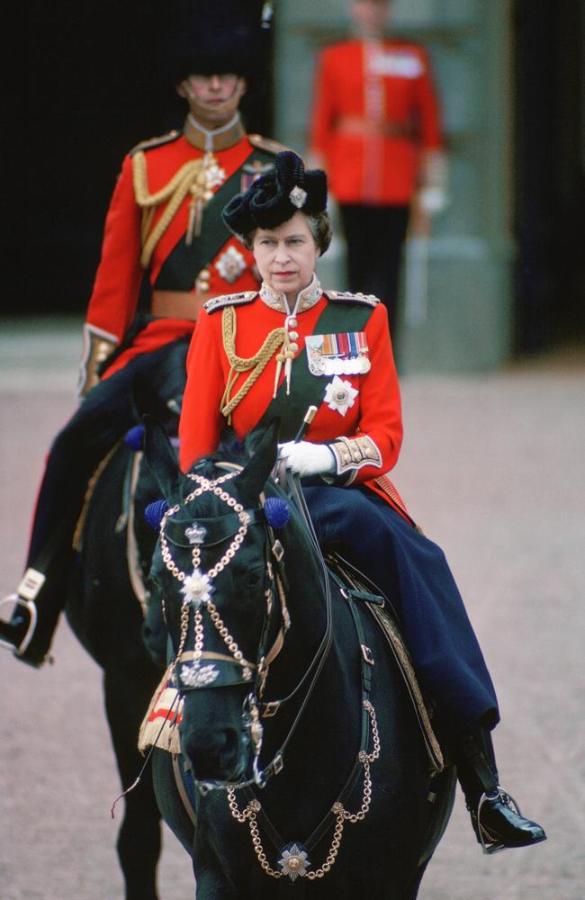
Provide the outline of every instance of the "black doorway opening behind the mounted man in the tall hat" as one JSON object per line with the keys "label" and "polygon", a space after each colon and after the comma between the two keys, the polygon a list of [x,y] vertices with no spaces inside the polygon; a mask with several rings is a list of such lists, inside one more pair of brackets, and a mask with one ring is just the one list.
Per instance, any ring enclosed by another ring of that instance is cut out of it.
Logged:
{"label": "black doorway opening behind the mounted man in the tall hat", "polygon": [[[243,2],[250,21],[259,22],[260,0]],[[181,127],[186,107],[158,72],[160,4],[28,0],[4,35],[4,313],[83,316],[124,154]],[[264,78],[243,103],[247,129],[266,135],[271,34]]]}

